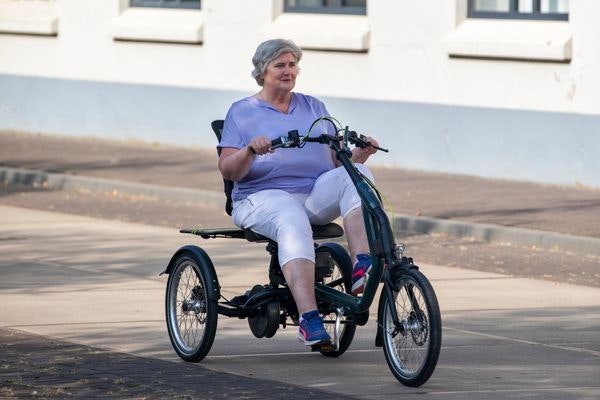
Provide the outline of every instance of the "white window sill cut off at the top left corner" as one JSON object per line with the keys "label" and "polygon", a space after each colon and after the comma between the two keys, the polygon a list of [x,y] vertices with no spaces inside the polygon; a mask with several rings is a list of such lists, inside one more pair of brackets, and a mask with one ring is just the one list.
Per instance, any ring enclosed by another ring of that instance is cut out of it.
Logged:
{"label": "white window sill cut off at the top left corner", "polygon": [[0,2],[0,33],[56,36],[58,16],[54,4]]}

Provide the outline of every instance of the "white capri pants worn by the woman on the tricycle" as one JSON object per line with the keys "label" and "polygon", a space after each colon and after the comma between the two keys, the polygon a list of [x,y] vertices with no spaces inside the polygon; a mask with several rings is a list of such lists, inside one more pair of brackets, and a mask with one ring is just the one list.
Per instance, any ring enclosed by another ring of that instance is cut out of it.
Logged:
{"label": "white capri pants worn by the woman on the tricycle", "polygon": [[[363,164],[355,166],[371,181]],[[306,194],[267,189],[234,202],[233,223],[277,242],[279,265],[304,258],[315,262],[311,224],[324,225],[361,206],[356,188],[343,167],[324,172]]]}

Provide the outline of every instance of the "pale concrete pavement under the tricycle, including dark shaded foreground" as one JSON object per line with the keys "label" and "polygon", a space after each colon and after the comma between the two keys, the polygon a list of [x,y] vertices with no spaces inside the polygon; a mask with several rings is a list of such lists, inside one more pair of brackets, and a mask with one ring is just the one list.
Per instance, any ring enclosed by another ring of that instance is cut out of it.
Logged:
{"label": "pale concrete pavement under the tricycle, including dark shaded foreground", "polygon": [[444,332],[437,369],[418,389],[389,372],[375,318],[330,359],[300,345],[294,327],[256,339],[246,321],[221,317],[208,357],[190,365],[169,343],[158,273],[196,243],[231,297],[266,281],[264,246],[6,206],[0,221],[0,397],[600,397],[598,288],[421,265]]}

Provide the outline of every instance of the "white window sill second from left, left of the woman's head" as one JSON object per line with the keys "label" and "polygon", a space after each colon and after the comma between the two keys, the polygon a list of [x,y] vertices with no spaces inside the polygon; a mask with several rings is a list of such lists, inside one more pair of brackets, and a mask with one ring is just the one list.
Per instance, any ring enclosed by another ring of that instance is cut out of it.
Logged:
{"label": "white window sill second from left, left of the woman's head", "polygon": [[200,10],[127,8],[112,24],[117,40],[202,43],[204,20]]}

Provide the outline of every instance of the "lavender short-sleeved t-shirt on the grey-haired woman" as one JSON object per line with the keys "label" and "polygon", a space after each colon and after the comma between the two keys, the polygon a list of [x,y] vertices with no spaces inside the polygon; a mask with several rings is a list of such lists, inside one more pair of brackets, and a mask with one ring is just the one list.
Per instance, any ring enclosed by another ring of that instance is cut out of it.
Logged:
{"label": "lavender short-sleeved t-shirt on the grey-haired woman", "polygon": [[[273,140],[294,129],[306,135],[317,118],[328,115],[321,101],[301,93],[292,93],[287,114],[263,100],[246,97],[233,103],[227,112],[219,146],[240,149],[256,136]],[[311,136],[334,132],[331,123],[322,121]],[[301,149],[276,149],[254,158],[248,175],[235,182],[232,198],[239,201],[264,189],[308,194],[317,177],[332,168],[331,150],[326,145],[307,143]]]}

